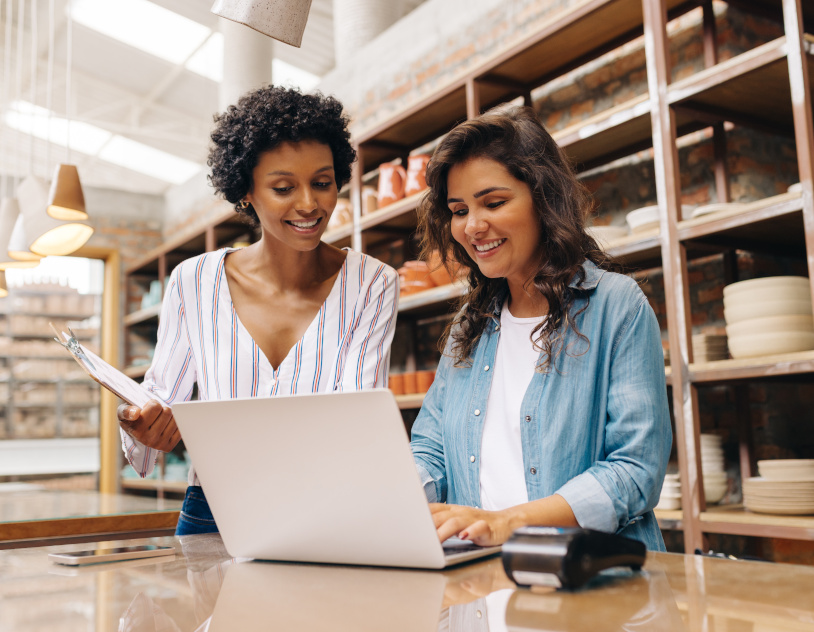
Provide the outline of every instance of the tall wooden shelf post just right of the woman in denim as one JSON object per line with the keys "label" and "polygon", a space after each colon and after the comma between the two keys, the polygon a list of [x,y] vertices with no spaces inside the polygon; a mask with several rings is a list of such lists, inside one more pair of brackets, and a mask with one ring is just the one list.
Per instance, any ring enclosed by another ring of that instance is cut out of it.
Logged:
{"label": "tall wooden shelf post just right of the woman in denim", "polygon": [[667,100],[670,81],[667,9],[663,0],[642,0],[647,84],[653,128],[653,161],[661,224],[664,293],[670,336],[673,383],[673,414],[676,422],[681,496],[684,510],[684,549],[703,549],[701,511],[704,509],[696,420],[698,395],[690,384],[692,361],[690,300],[687,288],[687,253],[678,238],[681,190],[676,149],[676,128]]}

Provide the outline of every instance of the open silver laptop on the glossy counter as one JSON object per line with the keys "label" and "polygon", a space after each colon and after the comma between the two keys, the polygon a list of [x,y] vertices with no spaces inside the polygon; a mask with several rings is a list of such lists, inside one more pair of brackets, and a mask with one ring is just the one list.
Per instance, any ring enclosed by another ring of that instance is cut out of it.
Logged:
{"label": "open silver laptop on the glossy counter", "polygon": [[444,568],[500,550],[441,546],[387,389],[184,402],[173,413],[230,555]]}

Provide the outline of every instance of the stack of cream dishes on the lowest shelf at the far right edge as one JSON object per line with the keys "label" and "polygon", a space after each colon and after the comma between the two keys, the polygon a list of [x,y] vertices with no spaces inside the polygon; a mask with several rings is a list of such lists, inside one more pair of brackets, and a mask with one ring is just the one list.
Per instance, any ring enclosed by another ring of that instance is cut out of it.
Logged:
{"label": "stack of cream dishes on the lowest shelf at the far right edge", "polygon": [[743,483],[743,504],[750,511],[814,514],[814,459],[758,461],[760,476]]}

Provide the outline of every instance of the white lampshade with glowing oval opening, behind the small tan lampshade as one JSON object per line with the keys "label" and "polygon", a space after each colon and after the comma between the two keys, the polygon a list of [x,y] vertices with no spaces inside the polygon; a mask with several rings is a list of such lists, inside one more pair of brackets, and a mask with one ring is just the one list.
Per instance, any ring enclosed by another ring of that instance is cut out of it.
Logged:
{"label": "white lampshade with glowing oval opening, behind the small tan lampshade", "polygon": [[93,234],[93,228],[84,222],[60,221],[45,212],[48,194],[45,182],[36,176],[28,176],[20,183],[17,200],[25,241],[34,254],[69,255],[84,246]]}

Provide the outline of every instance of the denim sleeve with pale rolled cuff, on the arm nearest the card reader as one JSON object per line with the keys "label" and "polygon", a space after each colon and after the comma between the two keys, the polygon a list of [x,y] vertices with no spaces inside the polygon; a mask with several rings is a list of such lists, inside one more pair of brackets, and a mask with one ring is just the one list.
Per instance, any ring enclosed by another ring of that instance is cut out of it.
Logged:
{"label": "denim sleeve with pale rolled cuff, on the arm nearest the card reader", "polygon": [[655,507],[672,445],[658,321],[639,297],[613,340],[605,458],[556,492],[580,526],[611,533]]}

